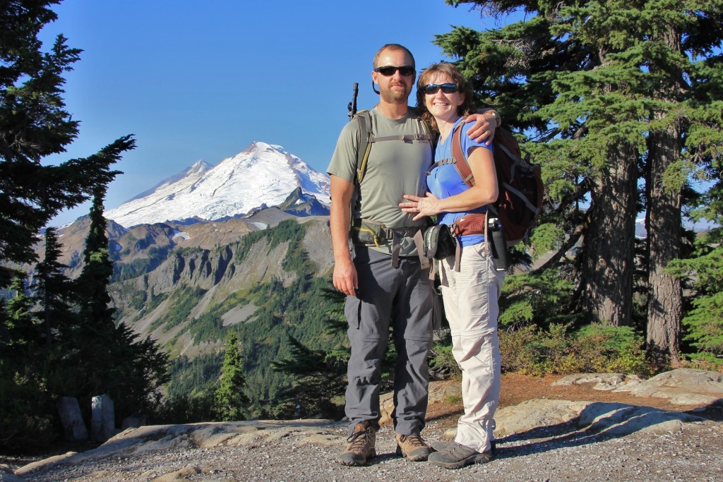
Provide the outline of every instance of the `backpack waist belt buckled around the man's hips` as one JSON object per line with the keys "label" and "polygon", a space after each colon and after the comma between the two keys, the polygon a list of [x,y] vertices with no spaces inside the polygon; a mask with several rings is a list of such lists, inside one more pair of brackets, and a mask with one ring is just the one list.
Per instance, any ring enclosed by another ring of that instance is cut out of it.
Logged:
{"label": "backpack waist belt buckled around the man's hips", "polygon": [[399,251],[401,239],[412,238],[416,246],[419,263],[423,269],[429,268],[429,259],[424,256],[424,238],[422,227],[388,228],[382,223],[371,219],[354,219],[351,223],[351,241],[364,246],[377,246],[392,241],[392,266],[399,267]]}

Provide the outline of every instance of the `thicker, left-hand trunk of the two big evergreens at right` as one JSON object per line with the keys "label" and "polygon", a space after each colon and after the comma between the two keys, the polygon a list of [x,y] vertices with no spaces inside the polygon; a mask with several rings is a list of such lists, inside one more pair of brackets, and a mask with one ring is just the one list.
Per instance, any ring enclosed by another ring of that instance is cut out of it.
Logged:
{"label": "thicker, left-hand trunk of the two big evergreens at right", "polygon": [[581,256],[581,301],[594,322],[630,324],[636,217],[636,159],[633,146],[608,155],[591,193],[589,225]]}

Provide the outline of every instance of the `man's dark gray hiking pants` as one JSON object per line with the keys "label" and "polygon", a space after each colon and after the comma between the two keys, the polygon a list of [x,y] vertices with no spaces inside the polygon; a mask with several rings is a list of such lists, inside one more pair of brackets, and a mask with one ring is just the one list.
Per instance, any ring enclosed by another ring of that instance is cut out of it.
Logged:
{"label": "man's dark gray hiking pants", "polygon": [[419,434],[427,413],[432,346],[432,285],[419,258],[401,257],[393,268],[388,254],[354,246],[359,297],[347,296],[345,314],[351,344],[346,389],[349,434],[356,423],[378,427],[382,360],[389,330],[396,350],[394,369],[395,432]]}

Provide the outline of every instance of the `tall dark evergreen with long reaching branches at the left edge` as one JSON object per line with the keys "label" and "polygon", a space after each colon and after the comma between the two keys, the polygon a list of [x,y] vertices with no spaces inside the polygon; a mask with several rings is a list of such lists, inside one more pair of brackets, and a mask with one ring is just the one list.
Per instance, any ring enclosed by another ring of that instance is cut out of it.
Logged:
{"label": "tall dark evergreen with long reaching branches at the left edge", "polygon": [[[115,175],[116,158],[93,156],[43,165],[64,152],[77,136],[78,122],[65,110],[64,72],[80,57],[59,35],[51,50],[41,50],[38,33],[56,20],[49,8],[58,0],[21,0],[0,6],[0,288],[9,285],[17,265],[35,262],[38,233],[60,210],[89,198],[95,184]],[[129,137],[116,141],[133,147]]]}

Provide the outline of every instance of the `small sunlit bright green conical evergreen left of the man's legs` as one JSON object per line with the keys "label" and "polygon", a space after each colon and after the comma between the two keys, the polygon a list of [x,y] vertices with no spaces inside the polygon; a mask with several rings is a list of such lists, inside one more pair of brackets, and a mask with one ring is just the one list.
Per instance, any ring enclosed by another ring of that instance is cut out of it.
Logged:
{"label": "small sunlit bright green conical evergreen left of the man's legs", "polygon": [[226,353],[221,366],[221,386],[215,392],[215,412],[222,421],[242,420],[249,399],[244,395],[246,379],[239,350],[239,335],[228,332]]}

